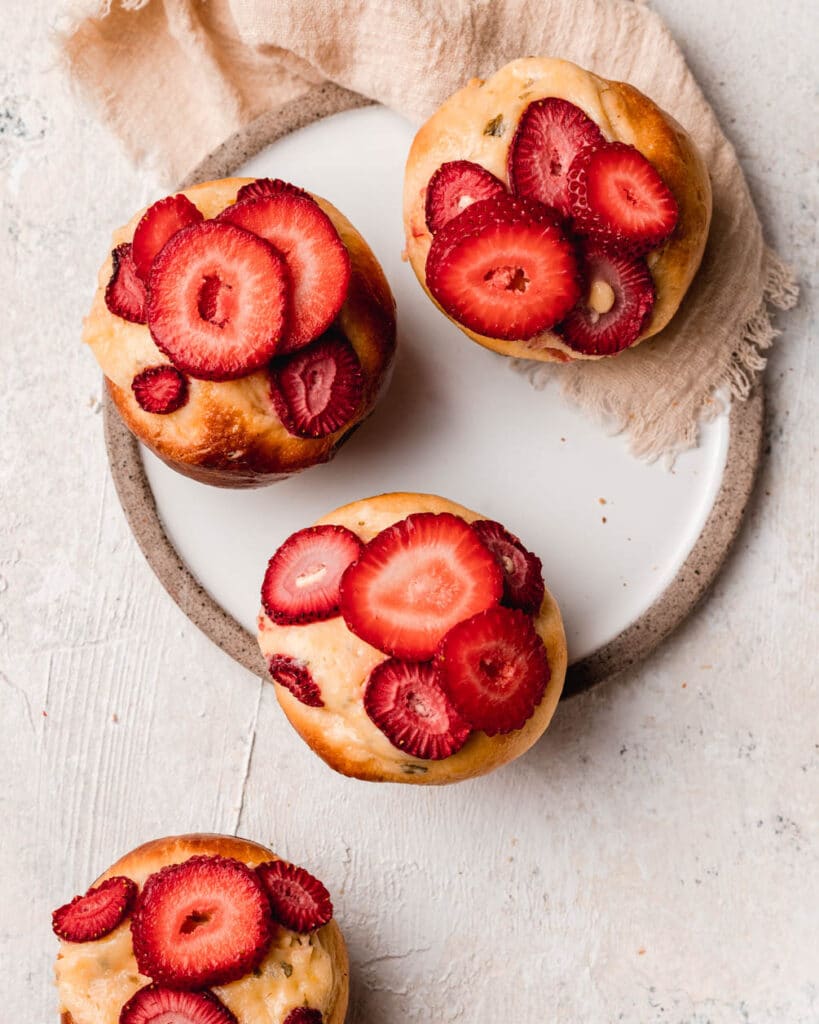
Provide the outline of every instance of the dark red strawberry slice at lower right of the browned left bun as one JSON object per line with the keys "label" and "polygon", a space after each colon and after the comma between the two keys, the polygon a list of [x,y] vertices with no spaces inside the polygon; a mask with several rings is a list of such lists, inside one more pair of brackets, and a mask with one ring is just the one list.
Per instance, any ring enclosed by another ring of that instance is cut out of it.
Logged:
{"label": "dark red strawberry slice at lower right of the browned left bun", "polygon": [[270,366],[270,397],[279,420],[296,437],[327,437],[345,426],[358,409],[363,388],[355,349],[336,331]]}

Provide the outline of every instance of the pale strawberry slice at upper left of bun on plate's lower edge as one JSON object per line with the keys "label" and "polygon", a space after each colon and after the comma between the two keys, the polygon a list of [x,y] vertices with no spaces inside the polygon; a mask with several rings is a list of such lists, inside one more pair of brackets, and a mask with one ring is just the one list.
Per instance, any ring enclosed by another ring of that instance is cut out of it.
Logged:
{"label": "pale strawberry slice at upper left of bun on plate's lower edge", "polygon": [[337,615],[341,578],[362,550],[346,526],[308,526],[293,534],[267,563],[264,610],[283,626]]}

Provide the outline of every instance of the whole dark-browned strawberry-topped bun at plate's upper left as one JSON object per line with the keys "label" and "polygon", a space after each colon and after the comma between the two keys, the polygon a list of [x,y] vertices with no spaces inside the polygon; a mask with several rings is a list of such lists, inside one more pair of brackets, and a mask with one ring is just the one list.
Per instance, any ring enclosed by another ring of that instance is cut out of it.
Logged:
{"label": "whole dark-browned strawberry-topped bun at plate's upper left", "polygon": [[83,339],[125,424],[169,466],[259,486],[332,459],[373,411],[395,303],[326,200],[225,178],[115,231]]}

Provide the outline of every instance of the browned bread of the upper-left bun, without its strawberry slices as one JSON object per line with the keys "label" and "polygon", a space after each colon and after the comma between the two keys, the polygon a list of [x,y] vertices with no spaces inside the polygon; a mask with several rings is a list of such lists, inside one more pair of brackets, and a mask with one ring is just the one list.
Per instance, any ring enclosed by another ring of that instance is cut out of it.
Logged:
{"label": "browned bread of the upper-left bun, without its strawberry slices", "polygon": [[[249,186],[253,180],[225,178],[207,181],[185,189],[181,195],[209,220],[231,206],[240,188]],[[265,180],[260,179],[260,184]],[[293,191],[297,203],[309,202],[307,194],[301,193],[302,200],[299,200],[299,190],[294,188]],[[292,428],[292,424],[290,427],[285,425],[278,407],[271,400],[270,377],[265,366],[236,379],[202,379],[192,372],[183,373],[187,384],[186,401],[167,414],[147,411],[137,401],[132,387],[137,375],[146,368],[168,367],[174,360],[155,343],[153,328],[115,314],[110,301],[106,302],[106,290],[110,299],[115,272],[123,275],[129,269],[128,263],[125,267],[120,265],[120,254],[122,247],[134,239],[145,211],[140,210],[124,227],[114,232],[115,252],[109,255],[99,271],[96,294],[84,324],[83,340],[96,356],[105,376],[109,393],[128,428],[169,466],[186,476],[218,486],[260,486],[327,462],[370,415],[388,383],[395,351],[395,303],[387,280],[372,250],[346,217],[320,197],[312,199],[332,222],[332,226],[327,222],[325,226],[331,232],[335,228],[349,257],[346,298],[332,328],[322,337],[341,339],[334,344],[341,344],[348,353],[349,343],[354,354],[347,359],[353,368],[357,359],[360,371],[359,376],[359,371],[354,370],[356,391],[354,398],[350,399],[349,409],[345,410],[344,422],[329,432],[328,428],[334,427],[335,421],[315,429],[310,427],[312,436],[295,432],[301,430],[299,425],[296,428]],[[328,251],[319,244],[314,249],[313,258]],[[133,278],[133,267],[130,271]],[[241,276],[247,279],[251,274]],[[294,307],[290,264],[285,276],[290,282],[287,286],[288,324]],[[138,281],[135,283],[139,285]],[[122,281],[121,287],[126,290],[128,284],[128,281]],[[324,285],[321,280],[314,282],[313,294],[321,293]],[[140,287],[144,290],[144,286]],[[126,290],[126,302],[129,298]],[[199,312],[205,317],[202,298]],[[292,354],[282,355],[275,351],[271,366],[283,365],[312,351],[320,341],[319,338]],[[279,339],[278,348],[283,345]]]}

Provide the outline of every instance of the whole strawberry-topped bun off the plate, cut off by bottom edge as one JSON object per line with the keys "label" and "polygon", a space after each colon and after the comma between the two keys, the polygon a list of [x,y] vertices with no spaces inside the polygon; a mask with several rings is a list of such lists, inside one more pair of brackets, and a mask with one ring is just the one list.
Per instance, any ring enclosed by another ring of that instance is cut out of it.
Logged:
{"label": "whole strawberry-topped bun off the plate, cut off by bottom edge", "polygon": [[172,836],[55,910],[61,1024],[342,1024],[347,949],[321,883],[232,836]]}

